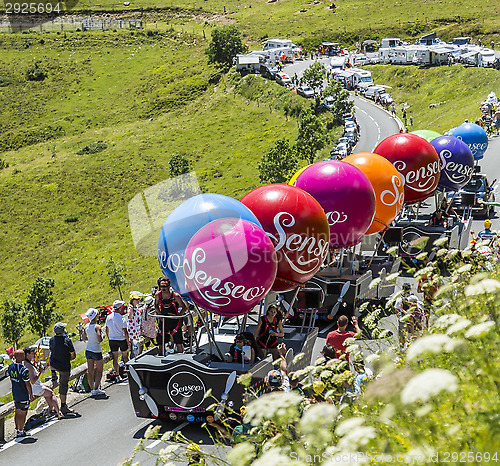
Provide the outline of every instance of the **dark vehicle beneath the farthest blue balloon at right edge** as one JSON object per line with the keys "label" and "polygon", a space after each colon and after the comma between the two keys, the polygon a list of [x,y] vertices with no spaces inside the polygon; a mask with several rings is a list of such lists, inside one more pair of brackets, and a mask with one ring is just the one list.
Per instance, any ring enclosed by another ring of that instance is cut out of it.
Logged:
{"label": "dark vehicle beneath the farthest blue balloon at right edge", "polygon": [[[466,210],[468,205],[472,205],[472,214],[489,217],[494,213],[494,207],[484,205],[479,200],[485,202],[494,202],[495,193],[493,192],[493,185],[496,179],[488,182],[486,175],[477,173],[472,175],[471,180],[453,197],[452,193],[448,194],[448,200],[451,201],[451,206],[456,210]],[[453,199],[453,200],[452,200]]]}

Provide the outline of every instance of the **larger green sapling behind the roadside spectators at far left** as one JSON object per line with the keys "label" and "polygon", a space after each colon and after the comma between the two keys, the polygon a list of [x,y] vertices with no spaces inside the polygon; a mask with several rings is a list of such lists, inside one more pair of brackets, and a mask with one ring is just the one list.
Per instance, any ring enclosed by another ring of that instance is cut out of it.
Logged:
{"label": "larger green sapling behind the roadside spectators at far left", "polygon": [[40,337],[47,335],[52,322],[62,319],[62,315],[55,310],[54,285],[52,278],[38,277],[26,299],[26,320],[31,330]]}

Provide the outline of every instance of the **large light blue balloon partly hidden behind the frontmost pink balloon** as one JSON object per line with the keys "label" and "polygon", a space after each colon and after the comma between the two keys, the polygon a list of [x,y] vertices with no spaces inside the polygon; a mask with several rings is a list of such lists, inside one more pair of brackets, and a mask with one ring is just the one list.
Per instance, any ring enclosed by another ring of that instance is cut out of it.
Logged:
{"label": "large light blue balloon partly hidden behind the frontmost pink balloon", "polygon": [[240,201],[222,194],[199,194],[177,206],[167,217],[158,239],[158,261],[172,288],[187,297],[184,253],[200,228],[220,218],[241,218],[262,228],[257,217]]}

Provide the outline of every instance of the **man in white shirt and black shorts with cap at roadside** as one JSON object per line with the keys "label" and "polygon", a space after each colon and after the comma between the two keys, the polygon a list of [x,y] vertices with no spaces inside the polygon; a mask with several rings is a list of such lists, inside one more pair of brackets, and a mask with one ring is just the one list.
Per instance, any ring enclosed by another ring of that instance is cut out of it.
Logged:
{"label": "man in white shirt and black shorts with cap at roadside", "polygon": [[113,303],[113,312],[106,317],[106,336],[109,340],[109,349],[113,355],[113,369],[115,370],[117,383],[121,382],[120,367],[118,365],[119,352],[122,354],[122,361],[128,362],[128,352],[130,351],[130,339],[127,330],[127,321],[123,316],[125,312],[125,302],[117,300]]}

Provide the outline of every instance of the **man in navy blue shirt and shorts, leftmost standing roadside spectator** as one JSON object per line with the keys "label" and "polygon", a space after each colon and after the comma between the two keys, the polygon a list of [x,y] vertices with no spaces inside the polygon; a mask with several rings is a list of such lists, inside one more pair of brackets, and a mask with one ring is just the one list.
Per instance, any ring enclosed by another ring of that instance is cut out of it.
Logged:
{"label": "man in navy blue shirt and shorts, leftmost standing roadside spectator", "polygon": [[28,369],[23,366],[24,351],[14,351],[14,362],[9,366],[7,372],[12,382],[12,398],[16,411],[14,414],[14,423],[16,424],[16,437],[22,438],[29,435],[24,430],[26,415],[30,407],[30,402],[35,398],[31,391],[30,374]]}

